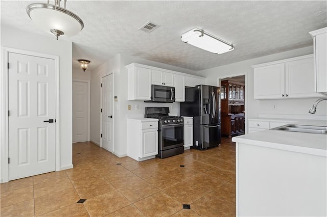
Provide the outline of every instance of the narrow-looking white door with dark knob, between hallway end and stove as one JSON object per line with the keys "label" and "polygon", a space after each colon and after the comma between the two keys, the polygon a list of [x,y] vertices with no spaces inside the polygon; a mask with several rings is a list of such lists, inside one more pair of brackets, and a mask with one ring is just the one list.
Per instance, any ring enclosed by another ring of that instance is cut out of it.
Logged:
{"label": "narrow-looking white door with dark knob, between hallway end and stove", "polygon": [[112,74],[102,78],[102,148],[112,152],[112,112],[113,80]]}

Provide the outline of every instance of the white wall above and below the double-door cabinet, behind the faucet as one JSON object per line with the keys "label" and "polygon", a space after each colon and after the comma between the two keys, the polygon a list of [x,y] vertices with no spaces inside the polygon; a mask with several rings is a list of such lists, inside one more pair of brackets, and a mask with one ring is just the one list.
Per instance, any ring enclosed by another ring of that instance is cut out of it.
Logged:
{"label": "white wall above and below the double-door cabinet, behind the faucet", "polygon": [[[253,93],[253,68],[250,67],[251,65],[308,55],[310,53],[313,53],[312,46],[206,69],[199,71],[198,74],[206,77],[206,82],[211,85],[217,85],[217,77],[247,74],[245,85],[247,100],[246,118],[256,118],[258,114],[310,115],[308,111],[317,98],[255,100]],[[319,104],[316,116],[327,115],[326,104],[326,101],[322,101]],[[273,105],[276,105],[276,109],[273,108]]]}

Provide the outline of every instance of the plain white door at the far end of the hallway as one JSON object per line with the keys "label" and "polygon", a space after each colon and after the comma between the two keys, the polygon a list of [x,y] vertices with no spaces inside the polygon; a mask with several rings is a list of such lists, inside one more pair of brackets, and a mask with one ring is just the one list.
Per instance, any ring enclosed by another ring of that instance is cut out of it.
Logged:
{"label": "plain white door at the far end of the hallway", "polygon": [[73,82],[73,142],[87,141],[88,83]]}

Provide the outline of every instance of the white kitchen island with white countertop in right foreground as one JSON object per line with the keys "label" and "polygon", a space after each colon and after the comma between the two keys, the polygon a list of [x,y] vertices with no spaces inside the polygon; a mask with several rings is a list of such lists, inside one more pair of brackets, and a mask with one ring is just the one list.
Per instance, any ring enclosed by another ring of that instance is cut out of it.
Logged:
{"label": "white kitchen island with white countertop in right foreground", "polygon": [[[312,120],[291,124],[327,126]],[[327,215],[326,134],[267,129],[232,141],[237,216]]]}

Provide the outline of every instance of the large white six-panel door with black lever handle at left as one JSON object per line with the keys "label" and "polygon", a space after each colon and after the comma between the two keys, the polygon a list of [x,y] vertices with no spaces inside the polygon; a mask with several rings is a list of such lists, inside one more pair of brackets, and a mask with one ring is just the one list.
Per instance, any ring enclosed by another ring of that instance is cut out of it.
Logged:
{"label": "large white six-panel door with black lever handle at left", "polygon": [[55,171],[55,60],[8,59],[9,180]]}

